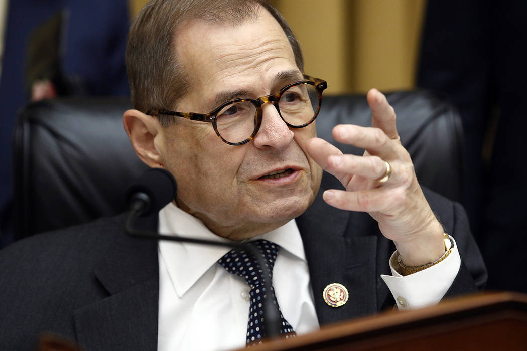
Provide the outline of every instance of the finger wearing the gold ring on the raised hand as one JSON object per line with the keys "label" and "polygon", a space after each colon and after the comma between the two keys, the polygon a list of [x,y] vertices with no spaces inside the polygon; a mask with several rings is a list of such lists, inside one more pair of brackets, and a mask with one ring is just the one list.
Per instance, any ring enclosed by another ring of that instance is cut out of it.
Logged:
{"label": "finger wearing the gold ring on the raised hand", "polygon": [[351,173],[368,179],[379,179],[386,175],[386,162],[378,156],[333,155],[328,157],[328,166],[335,173]]}

